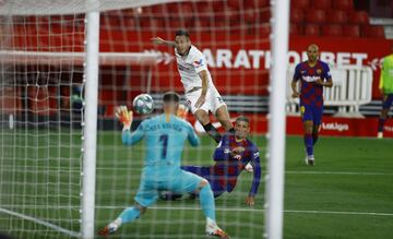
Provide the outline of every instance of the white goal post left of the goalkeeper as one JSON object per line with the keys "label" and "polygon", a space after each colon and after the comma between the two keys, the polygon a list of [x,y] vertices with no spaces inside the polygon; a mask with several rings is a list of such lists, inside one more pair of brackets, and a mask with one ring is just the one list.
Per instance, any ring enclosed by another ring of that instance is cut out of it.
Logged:
{"label": "white goal post left of the goalkeeper", "polygon": [[[88,1],[91,3],[94,0]],[[82,191],[82,238],[95,238],[95,183],[97,145],[97,105],[98,105],[98,51],[99,12],[86,14],[86,55],[83,81],[85,89],[84,133],[83,133],[83,191]]]}

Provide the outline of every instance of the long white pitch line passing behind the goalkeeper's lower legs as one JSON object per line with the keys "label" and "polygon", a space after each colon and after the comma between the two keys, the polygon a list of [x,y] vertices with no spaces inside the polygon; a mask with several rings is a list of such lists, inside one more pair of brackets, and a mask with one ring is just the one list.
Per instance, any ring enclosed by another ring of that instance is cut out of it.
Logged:
{"label": "long white pitch line passing behind the goalkeeper's lower legs", "polygon": [[[124,206],[126,207],[126,206]],[[96,208],[104,210],[118,210],[124,208],[123,206],[96,206]],[[183,210],[183,211],[200,211],[200,207],[190,206],[152,206],[152,210]],[[265,210],[255,208],[239,208],[239,207],[216,207],[219,212],[249,212],[249,213],[263,213]],[[314,210],[285,210],[284,213],[299,213],[299,214],[337,214],[337,215],[366,215],[366,216],[393,216],[393,213],[376,213],[376,212],[350,212],[350,211],[314,211]]]}

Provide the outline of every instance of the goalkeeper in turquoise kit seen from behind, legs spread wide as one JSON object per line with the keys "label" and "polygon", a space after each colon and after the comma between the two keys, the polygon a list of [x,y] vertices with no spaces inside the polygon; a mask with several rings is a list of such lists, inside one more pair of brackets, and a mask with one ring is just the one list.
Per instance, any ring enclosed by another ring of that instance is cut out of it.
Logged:
{"label": "goalkeeper in turquoise kit seen from behind, legs spread wide", "polygon": [[133,206],[126,208],[114,222],[98,234],[114,234],[123,224],[139,218],[148,206],[158,199],[162,190],[177,193],[198,192],[201,208],[206,217],[206,234],[219,238],[229,238],[216,224],[215,203],[209,182],[180,169],[180,156],[184,141],[196,146],[200,140],[190,123],[176,117],[179,95],[169,92],[164,95],[164,113],[144,120],[134,132],[130,132],[132,111],[120,107],[117,117],[123,123],[122,142],[133,145],[145,138],[145,166],[142,171],[140,188]]}

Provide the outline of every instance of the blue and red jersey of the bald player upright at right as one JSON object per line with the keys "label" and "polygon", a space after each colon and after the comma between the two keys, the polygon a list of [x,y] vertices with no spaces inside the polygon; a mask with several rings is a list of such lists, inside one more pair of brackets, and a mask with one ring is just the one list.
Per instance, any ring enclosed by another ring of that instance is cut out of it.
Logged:
{"label": "blue and red jersey of the bald player upright at right", "polygon": [[308,61],[300,62],[296,65],[294,81],[300,82],[300,105],[323,106],[323,86],[317,84],[318,80],[330,80],[331,73],[329,65],[318,60],[317,64],[310,67]]}

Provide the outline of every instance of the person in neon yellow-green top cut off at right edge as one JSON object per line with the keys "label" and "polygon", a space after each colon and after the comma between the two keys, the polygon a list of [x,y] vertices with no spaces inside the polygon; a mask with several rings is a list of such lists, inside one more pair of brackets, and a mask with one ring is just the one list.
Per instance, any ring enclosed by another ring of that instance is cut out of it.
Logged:
{"label": "person in neon yellow-green top cut off at right edge", "polygon": [[388,119],[389,109],[393,103],[393,53],[383,58],[379,88],[382,95],[382,110],[378,121],[378,139],[382,139],[383,126]]}

